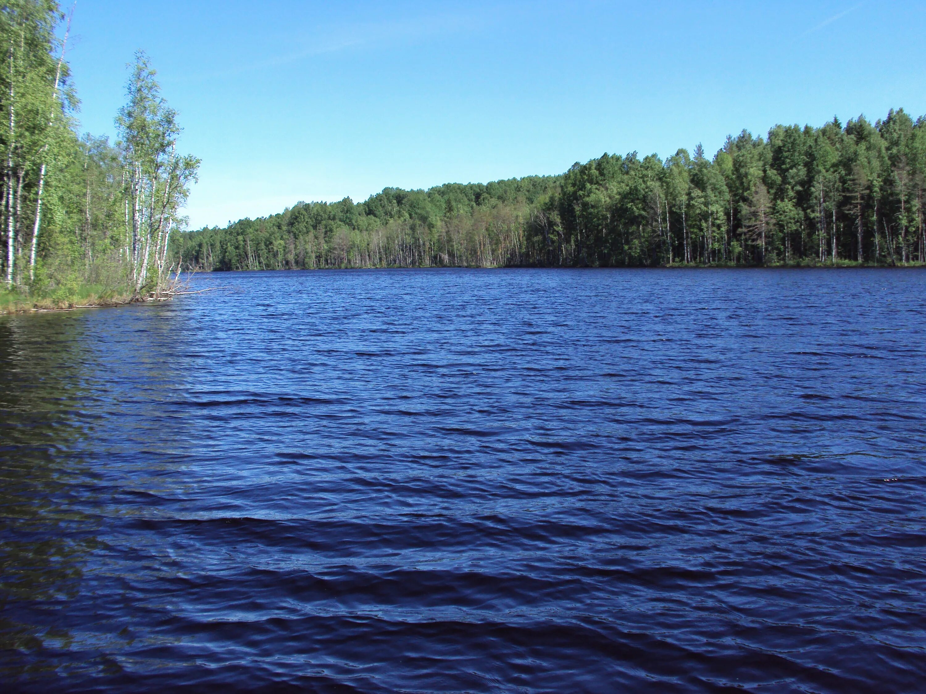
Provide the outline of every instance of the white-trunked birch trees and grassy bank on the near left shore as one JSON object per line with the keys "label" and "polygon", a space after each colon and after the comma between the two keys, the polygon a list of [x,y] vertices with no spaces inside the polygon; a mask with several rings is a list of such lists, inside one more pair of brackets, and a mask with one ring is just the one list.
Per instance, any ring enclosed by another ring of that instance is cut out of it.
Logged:
{"label": "white-trunked birch trees and grassy bank on the near left shore", "polygon": [[177,153],[176,113],[143,53],[118,141],[79,134],[69,30],[53,0],[0,6],[0,308],[158,298],[176,286],[170,236],[199,162]]}

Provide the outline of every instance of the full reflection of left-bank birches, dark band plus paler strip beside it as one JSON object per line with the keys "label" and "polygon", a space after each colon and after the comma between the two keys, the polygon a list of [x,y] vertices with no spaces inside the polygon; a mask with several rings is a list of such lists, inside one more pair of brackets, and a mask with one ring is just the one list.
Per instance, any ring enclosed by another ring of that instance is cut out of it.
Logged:
{"label": "full reflection of left-bank birches, dark band plus paler strip beside it", "polygon": [[42,672],[74,669],[116,673],[110,653],[134,642],[124,622],[93,625],[101,601],[113,613],[131,610],[120,589],[131,575],[110,548],[124,520],[145,507],[126,499],[176,493],[165,473],[182,457],[176,442],[189,437],[169,415],[172,393],[184,385],[169,354],[172,317],[155,308],[0,318],[7,681],[34,684]]}

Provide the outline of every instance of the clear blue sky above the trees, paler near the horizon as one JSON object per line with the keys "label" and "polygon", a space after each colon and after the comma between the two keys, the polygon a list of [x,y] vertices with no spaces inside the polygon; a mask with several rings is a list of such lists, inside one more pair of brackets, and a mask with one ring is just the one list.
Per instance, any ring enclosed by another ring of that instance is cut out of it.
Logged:
{"label": "clear blue sky above the trees, paler near the horizon", "polygon": [[113,134],[133,52],[152,57],[203,159],[194,228],[604,152],[714,152],[779,122],[926,114],[921,0],[80,0],[73,31],[95,134]]}

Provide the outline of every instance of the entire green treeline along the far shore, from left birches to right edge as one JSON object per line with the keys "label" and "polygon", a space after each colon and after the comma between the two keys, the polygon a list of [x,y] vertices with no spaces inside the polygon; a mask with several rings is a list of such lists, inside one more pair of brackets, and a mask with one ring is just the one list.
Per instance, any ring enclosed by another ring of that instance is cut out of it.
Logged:
{"label": "entire green treeline along the far shore, from left birches to right edge", "polygon": [[178,235],[186,266],[922,263],[926,117],[743,131],[713,159],[603,155],[562,176],[386,189]]}

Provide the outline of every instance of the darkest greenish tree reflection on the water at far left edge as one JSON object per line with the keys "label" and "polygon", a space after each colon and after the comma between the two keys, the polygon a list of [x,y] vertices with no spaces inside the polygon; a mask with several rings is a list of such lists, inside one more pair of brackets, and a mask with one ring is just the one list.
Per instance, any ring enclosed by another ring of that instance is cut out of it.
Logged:
{"label": "darkest greenish tree reflection on the water at far left edge", "polygon": [[[81,507],[94,479],[81,455],[93,427],[80,415],[83,328],[81,316],[0,320],[0,649],[6,677],[40,666],[35,653],[70,648],[60,610],[79,594],[83,564],[97,544],[98,519]],[[75,494],[81,505],[69,503]]]}

